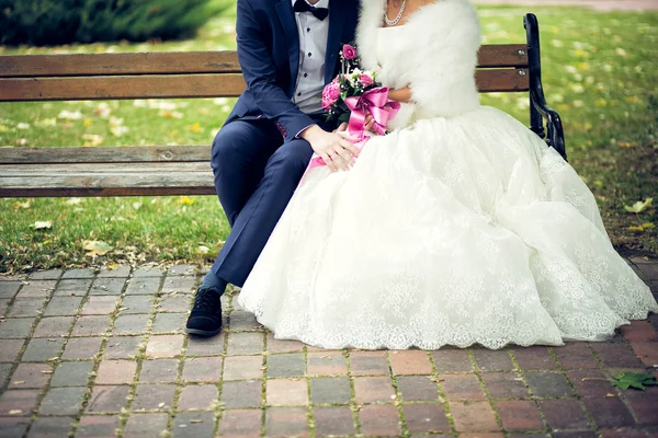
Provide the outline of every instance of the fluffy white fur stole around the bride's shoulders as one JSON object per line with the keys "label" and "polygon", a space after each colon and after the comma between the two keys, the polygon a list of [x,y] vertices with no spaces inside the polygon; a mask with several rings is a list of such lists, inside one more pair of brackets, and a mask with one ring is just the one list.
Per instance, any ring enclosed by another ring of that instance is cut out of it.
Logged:
{"label": "fluffy white fur stole around the bride's shoulders", "polygon": [[[385,9],[386,0],[362,2],[356,44],[363,67],[376,71],[386,87],[410,87],[424,114],[452,117],[477,108],[481,33],[475,7],[468,0],[436,0],[415,12],[404,28],[381,31]],[[377,54],[379,37],[387,38],[386,54]]]}

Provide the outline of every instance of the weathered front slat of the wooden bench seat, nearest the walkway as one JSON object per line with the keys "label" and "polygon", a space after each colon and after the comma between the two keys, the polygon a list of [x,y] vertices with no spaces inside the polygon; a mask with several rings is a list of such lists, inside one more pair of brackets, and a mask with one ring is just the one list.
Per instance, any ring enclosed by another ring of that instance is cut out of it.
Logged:
{"label": "weathered front slat of the wooden bench seat, nearest the walkway", "polygon": [[[213,172],[205,163],[3,165],[0,197],[213,195]],[[11,169],[14,168],[14,169]],[[45,169],[44,169],[45,168]],[[22,176],[11,176],[22,173]]]}

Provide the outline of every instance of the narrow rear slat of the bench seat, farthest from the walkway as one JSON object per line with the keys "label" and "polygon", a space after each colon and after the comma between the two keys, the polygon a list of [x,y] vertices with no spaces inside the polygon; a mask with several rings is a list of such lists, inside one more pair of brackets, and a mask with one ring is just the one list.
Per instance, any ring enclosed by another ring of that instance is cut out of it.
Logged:
{"label": "narrow rear slat of the bench seat, farthest from the walkway", "polygon": [[[208,146],[0,148],[0,164],[211,161]],[[0,168],[1,170],[2,168]]]}

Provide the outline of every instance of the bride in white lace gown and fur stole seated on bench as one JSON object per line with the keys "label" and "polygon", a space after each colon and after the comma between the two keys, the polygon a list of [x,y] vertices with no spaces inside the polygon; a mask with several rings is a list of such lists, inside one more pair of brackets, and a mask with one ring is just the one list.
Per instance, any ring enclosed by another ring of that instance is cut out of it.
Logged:
{"label": "bride in white lace gown and fur stole seated on bench", "polygon": [[474,7],[393,3],[362,2],[356,37],[404,103],[393,132],[306,174],[239,303],[325,348],[603,341],[658,311],[574,169],[479,105]]}

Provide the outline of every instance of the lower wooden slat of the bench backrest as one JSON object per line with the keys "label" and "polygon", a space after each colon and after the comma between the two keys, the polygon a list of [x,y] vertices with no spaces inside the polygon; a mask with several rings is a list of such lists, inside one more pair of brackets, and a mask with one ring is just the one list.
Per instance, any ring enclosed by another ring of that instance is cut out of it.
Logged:
{"label": "lower wooden slat of the bench backrest", "polygon": [[[478,70],[478,88],[481,92],[527,91],[527,74],[519,77],[518,71]],[[236,97],[245,88],[237,73],[0,79],[0,102]]]}

